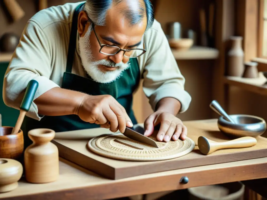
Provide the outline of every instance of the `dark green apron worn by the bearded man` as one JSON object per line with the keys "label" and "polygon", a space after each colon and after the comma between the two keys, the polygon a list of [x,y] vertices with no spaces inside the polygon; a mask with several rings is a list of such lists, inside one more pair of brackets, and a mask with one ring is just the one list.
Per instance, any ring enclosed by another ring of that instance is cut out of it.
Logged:
{"label": "dark green apron worn by the bearded man", "polygon": [[[66,72],[64,72],[61,87],[90,95],[109,94],[125,108],[127,114],[132,120],[132,123],[136,124],[137,121],[132,110],[133,92],[138,87],[140,81],[140,70],[136,58],[130,58],[130,67],[123,72],[120,78],[111,83],[97,83],[89,76],[85,78],[71,73],[76,47],[78,14],[83,4],[84,3],[77,6],[73,14]],[[100,125],[84,122],[78,117],[78,115],[44,116],[40,121],[25,116],[22,125],[25,141],[24,148],[28,147],[32,143],[28,137],[28,131],[32,129],[48,128],[53,129],[56,132],[62,132],[91,129],[96,127],[100,127]]]}

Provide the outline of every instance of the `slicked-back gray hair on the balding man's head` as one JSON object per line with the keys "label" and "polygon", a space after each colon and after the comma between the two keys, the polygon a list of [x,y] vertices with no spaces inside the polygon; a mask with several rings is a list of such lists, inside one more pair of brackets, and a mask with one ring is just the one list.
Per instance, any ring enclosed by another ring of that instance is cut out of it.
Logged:
{"label": "slicked-back gray hair on the balding man's head", "polygon": [[[90,20],[99,26],[104,26],[106,21],[107,10],[112,6],[120,4],[125,0],[87,0],[84,10],[89,16]],[[145,7],[139,3],[139,0],[127,0],[128,9],[123,10],[122,13],[131,25],[138,24],[142,21],[144,15],[147,17],[147,27],[149,29],[154,22],[154,11],[149,0],[143,0]]]}

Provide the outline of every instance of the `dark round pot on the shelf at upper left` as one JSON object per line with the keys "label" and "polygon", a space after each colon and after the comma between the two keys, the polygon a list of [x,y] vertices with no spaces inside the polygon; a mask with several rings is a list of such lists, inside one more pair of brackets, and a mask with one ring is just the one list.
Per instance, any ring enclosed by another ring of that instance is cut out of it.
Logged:
{"label": "dark round pot on the shelf at upper left", "polygon": [[19,37],[14,33],[5,33],[0,38],[0,51],[13,52],[19,44]]}

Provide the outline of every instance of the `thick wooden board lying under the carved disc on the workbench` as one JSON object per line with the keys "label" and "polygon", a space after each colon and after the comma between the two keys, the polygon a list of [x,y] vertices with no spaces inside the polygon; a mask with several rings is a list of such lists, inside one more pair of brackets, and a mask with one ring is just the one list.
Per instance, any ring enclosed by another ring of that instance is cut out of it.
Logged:
{"label": "thick wooden board lying under the carved disc on the workbench", "polygon": [[86,147],[88,140],[101,134],[110,133],[104,128],[56,133],[52,142],[57,145],[61,157],[109,179],[122,179],[174,169],[262,158],[267,154],[267,138],[258,137],[258,142],[253,147],[223,149],[203,155],[197,146],[199,136],[205,136],[218,142],[231,138],[219,131],[217,123],[188,121],[184,124],[188,129],[188,137],[196,144],[195,149],[187,155],[165,161],[120,161],[91,153]]}

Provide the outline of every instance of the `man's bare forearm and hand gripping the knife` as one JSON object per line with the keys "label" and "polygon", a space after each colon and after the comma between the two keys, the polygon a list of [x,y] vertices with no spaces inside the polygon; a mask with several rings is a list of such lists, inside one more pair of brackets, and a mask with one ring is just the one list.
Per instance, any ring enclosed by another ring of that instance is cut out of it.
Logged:
{"label": "man's bare forearm and hand gripping the knife", "polygon": [[88,95],[74,90],[54,87],[34,100],[38,114],[60,116],[76,114],[83,121],[96,123],[112,132],[124,133],[132,122],[123,106],[111,95]]}

